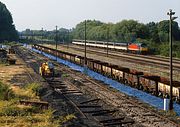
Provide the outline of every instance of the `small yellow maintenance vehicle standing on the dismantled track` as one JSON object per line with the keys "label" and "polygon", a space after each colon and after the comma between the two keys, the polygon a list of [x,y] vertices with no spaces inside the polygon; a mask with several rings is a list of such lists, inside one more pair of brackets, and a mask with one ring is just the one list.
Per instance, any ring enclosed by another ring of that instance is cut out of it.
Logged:
{"label": "small yellow maintenance vehicle standing on the dismantled track", "polygon": [[39,73],[43,77],[54,77],[54,65],[51,62],[44,62],[39,67]]}

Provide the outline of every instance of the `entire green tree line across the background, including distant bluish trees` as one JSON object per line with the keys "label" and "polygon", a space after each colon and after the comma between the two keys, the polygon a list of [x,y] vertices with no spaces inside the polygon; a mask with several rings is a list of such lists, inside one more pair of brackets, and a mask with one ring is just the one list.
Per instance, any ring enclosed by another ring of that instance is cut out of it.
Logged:
{"label": "entire green tree line across the background, including distant bluish trees", "polygon": [[[178,23],[172,22],[172,38],[174,42],[173,55],[180,57],[180,28]],[[30,39],[47,39],[59,42],[71,42],[72,39],[84,39],[85,21],[80,22],[73,29],[60,28],[57,31],[30,30],[23,31],[22,35],[31,35]],[[169,21],[139,23],[136,20],[123,20],[117,23],[103,23],[97,20],[86,21],[88,40],[112,42],[143,42],[154,54],[168,56],[169,54]],[[57,35],[57,37],[56,37]]]}

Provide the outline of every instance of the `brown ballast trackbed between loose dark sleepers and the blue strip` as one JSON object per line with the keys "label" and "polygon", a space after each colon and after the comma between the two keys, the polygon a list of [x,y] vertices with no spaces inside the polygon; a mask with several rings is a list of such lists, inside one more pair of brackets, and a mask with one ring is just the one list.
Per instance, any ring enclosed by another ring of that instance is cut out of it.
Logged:
{"label": "brown ballast trackbed between loose dark sleepers and the blue strip", "polygon": [[[65,71],[65,70],[63,70]],[[67,71],[67,70],[66,70]],[[97,83],[94,80],[86,77],[82,74],[77,75],[73,73],[72,70],[68,70],[71,77],[75,77],[79,85],[76,84],[79,89],[84,92],[91,93],[94,96],[104,100],[106,103],[111,104],[115,109],[120,110],[126,115],[138,122],[140,122],[145,127],[178,127],[179,125],[162,117],[155,112],[152,112],[145,107],[141,106],[141,102],[134,100],[122,93],[114,92],[109,90],[106,86],[101,83]]]}

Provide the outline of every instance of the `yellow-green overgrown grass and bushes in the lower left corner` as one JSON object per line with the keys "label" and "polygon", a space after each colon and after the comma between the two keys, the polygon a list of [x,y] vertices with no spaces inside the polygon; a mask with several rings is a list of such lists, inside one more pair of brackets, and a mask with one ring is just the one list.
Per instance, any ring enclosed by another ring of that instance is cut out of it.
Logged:
{"label": "yellow-green overgrown grass and bushes in the lower left corner", "polygon": [[[38,83],[23,88],[10,87],[0,82],[0,126],[1,127],[59,127],[74,119],[74,115],[54,119],[52,109],[21,105],[19,100],[39,100]],[[7,96],[8,95],[8,96]]]}

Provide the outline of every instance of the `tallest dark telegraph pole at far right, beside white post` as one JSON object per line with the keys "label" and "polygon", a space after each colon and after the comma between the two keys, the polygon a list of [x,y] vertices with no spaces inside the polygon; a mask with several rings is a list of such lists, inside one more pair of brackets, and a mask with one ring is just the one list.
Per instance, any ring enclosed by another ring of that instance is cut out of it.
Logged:
{"label": "tallest dark telegraph pole at far right, beside white post", "polygon": [[175,14],[175,12],[172,12],[170,9],[167,15],[169,15],[169,61],[170,61],[170,100],[169,100],[169,110],[173,110],[173,94],[172,94],[172,88],[173,88],[173,65],[172,65],[172,21],[176,19],[177,17],[172,17]]}

